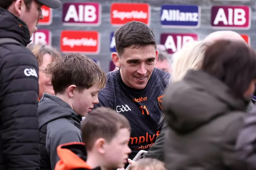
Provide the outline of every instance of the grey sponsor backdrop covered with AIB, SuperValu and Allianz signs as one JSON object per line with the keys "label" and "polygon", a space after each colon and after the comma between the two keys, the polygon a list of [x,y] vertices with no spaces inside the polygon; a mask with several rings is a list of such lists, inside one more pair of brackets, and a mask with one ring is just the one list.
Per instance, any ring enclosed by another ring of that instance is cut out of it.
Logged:
{"label": "grey sponsor backdrop covered with AIB, SuperValu and Allianz signs", "polygon": [[45,18],[31,40],[62,54],[82,53],[108,72],[115,68],[113,33],[126,22],[148,24],[170,54],[218,30],[234,30],[256,48],[255,8],[255,0],[62,0],[61,8],[43,7]]}

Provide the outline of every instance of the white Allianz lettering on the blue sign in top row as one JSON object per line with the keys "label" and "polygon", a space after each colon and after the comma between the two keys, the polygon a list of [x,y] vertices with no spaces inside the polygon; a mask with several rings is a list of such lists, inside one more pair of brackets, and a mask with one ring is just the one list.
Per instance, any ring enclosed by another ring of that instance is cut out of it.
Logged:
{"label": "white Allianz lettering on the blue sign in top row", "polygon": [[192,21],[198,22],[197,12],[180,12],[180,10],[175,9],[163,9],[161,21]]}

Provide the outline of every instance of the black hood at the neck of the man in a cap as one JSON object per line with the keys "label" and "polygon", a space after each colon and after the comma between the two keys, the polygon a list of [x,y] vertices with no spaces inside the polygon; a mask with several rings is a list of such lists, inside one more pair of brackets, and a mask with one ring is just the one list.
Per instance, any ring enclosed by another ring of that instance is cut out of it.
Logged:
{"label": "black hood at the neck of the man in a cap", "polygon": [[24,46],[31,42],[27,24],[1,7],[0,23],[0,38],[13,38]]}

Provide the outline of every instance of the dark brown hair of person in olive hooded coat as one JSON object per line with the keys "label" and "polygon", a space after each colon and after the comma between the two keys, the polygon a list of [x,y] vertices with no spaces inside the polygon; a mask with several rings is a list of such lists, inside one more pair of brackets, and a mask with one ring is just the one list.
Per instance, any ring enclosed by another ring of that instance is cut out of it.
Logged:
{"label": "dark brown hair of person in olive hooded coat", "polygon": [[256,53],[245,42],[219,40],[206,49],[202,70],[228,85],[236,97],[243,97],[256,79]]}

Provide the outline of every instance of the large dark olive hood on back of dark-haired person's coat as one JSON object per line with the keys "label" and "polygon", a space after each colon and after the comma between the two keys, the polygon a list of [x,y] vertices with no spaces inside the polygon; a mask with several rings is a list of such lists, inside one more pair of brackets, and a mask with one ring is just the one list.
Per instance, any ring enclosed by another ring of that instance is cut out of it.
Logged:
{"label": "large dark olive hood on back of dark-haired person's coat", "polygon": [[234,97],[220,80],[201,70],[189,70],[184,79],[166,89],[163,107],[168,125],[187,133],[228,112],[244,112],[248,103]]}

